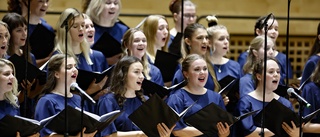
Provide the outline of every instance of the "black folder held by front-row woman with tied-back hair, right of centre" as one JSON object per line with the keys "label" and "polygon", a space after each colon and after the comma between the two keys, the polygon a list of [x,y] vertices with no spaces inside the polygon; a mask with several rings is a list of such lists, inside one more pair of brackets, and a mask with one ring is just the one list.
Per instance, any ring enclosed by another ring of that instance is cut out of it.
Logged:
{"label": "black folder held by front-row woman with tied-back hair, right of centre", "polygon": [[198,112],[186,117],[184,121],[187,124],[197,128],[203,134],[207,136],[214,136],[218,133],[217,123],[222,122],[223,125],[224,123],[228,123],[229,126],[232,126],[237,121],[253,115],[256,112],[257,110],[248,112],[239,117],[234,117],[232,114],[222,109],[215,103],[210,103]]}

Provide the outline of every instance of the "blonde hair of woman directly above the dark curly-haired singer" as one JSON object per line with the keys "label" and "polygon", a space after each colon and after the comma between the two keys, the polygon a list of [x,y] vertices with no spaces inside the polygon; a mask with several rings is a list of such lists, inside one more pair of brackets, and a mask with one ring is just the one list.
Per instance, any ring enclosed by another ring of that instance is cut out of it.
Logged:
{"label": "blonde hair of woman directly above the dark curly-haired singer", "polygon": [[[131,51],[129,51],[128,46],[131,46],[134,40],[134,33],[136,32],[142,32],[139,28],[131,28],[123,35],[121,48],[123,51],[123,56],[132,56]],[[143,32],[142,32],[143,33]],[[148,47],[148,46],[147,46]],[[141,59],[142,65],[143,65],[143,73],[146,79],[150,80],[151,76],[150,73],[150,67],[149,67],[149,61],[147,54],[145,53]]]}

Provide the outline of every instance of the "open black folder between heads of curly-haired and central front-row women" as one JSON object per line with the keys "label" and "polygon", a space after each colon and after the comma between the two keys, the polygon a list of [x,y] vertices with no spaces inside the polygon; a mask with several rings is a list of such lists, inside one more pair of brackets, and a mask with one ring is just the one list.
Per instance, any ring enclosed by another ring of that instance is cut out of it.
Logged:
{"label": "open black folder between heads of curly-haired and central front-row women", "polygon": [[161,98],[164,98],[169,95],[171,91],[178,90],[185,85],[187,85],[187,81],[183,80],[182,82],[167,88],[160,86],[150,80],[144,79],[142,82],[142,89],[145,95],[149,96],[157,93]]}

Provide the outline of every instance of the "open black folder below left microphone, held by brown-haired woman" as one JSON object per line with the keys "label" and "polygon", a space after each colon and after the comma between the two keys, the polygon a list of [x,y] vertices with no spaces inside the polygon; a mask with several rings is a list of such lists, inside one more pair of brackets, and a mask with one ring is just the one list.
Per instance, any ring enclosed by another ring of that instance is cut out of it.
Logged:
{"label": "open black folder below left microphone, held by brown-haired woman", "polygon": [[[56,114],[55,117],[52,118],[50,122],[45,126],[53,132],[58,134],[65,133],[65,112],[68,111],[68,132],[69,135],[77,135],[82,131],[81,127],[81,109],[73,108],[71,106],[67,106],[67,109],[64,109],[60,113]],[[102,116],[98,116],[96,114],[83,111],[83,126],[86,128],[84,133],[92,133],[96,130],[102,131],[105,129],[110,123],[112,123],[123,111],[115,110],[104,114]]]}

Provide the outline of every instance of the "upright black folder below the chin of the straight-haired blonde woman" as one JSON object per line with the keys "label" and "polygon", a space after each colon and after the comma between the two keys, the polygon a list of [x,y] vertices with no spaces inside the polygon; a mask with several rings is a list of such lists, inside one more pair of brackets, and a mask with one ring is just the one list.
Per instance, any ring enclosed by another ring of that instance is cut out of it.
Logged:
{"label": "upright black folder below the chin of the straight-haired blonde woman", "polygon": [[172,81],[179,64],[180,57],[165,51],[158,50],[154,65],[161,71],[164,82]]}

